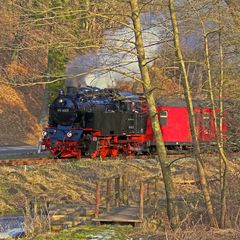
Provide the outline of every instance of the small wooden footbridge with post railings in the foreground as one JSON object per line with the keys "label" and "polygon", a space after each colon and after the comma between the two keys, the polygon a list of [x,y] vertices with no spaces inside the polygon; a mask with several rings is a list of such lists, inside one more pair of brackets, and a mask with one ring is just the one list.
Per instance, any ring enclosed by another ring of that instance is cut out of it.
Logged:
{"label": "small wooden footbridge with post railings in the foreground", "polygon": [[[126,175],[100,178],[96,183],[96,208],[94,222],[98,224],[119,223],[138,226],[152,200],[159,199],[159,176],[138,182],[136,199],[129,197],[129,181]],[[102,205],[101,205],[102,203]]]}

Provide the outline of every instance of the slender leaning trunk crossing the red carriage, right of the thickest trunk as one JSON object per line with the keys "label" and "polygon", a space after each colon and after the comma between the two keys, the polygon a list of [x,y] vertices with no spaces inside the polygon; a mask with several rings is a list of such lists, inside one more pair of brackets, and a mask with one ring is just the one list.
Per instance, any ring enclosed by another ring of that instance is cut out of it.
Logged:
{"label": "slender leaning trunk crossing the red carriage, right of the thickest trunk", "polygon": [[210,224],[212,226],[217,227],[218,224],[213,211],[212,201],[211,201],[206,173],[204,169],[204,164],[200,155],[200,146],[199,146],[196,128],[195,128],[195,117],[194,117],[194,111],[193,111],[192,96],[191,96],[187,71],[186,71],[184,60],[183,60],[182,50],[180,47],[178,24],[177,24],[176,14],[174,10],[174,0],[169,0],[169,9],[170,9],[170,15],[171,15],[172,26],[173,26],[174,44],[176,48],[177,57],[179,59],[181,74],[183,77],[184,95],[185,95],[187,108],[188,108],[189,123],[190,123],[190,129],[192,134],[192,141],[194,145],[194,156],[196,158],[199,179],[200,179],[200,183],[201,183],[201,187],[202,187],[202,191],[205,199],[205,204],[206,204]]}

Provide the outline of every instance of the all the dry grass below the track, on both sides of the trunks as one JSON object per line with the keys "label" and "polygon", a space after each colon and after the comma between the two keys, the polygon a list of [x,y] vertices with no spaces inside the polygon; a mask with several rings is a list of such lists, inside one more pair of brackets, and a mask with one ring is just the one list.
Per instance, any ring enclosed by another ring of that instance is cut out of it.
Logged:
{"label": "all the dry grass below the track, on both sides of the trunks", "polygon": [[[218,158],[205,159],[207,176],[210,180],[211,195],[219,217],[219,177]],[[183,159],[172,165],[177,200],[180,209],[181,228],[171,232],[166,216],[164,186],[160,183],[160,201],[154,214],[147,218],[141,231],[136,234],[143,239],[168,240],[204,240],[204,239],[240,239],[240,163],[231,162],[228,191],[228,230],[216,230],[208,227],[205,205],[196,174],[195,161]],[[53,203],[73,203],[94,205],[95,183],[98,177],[115,174],[128,174],[130,197],[138,194],[140,179],[160,173],[154,159],[136,160],[81,160],[72,163],[49,164],[46,166],[23,168],[0,168],[0,211],[2,214],[23,208],[26,200],[44,197]],[[234,229],[234,230],[233,230]],[[151,236],[152,238],[148,238]],[[212,236],[212,238],[211,238]],[[239,237],[239,238],[238,238]]]}

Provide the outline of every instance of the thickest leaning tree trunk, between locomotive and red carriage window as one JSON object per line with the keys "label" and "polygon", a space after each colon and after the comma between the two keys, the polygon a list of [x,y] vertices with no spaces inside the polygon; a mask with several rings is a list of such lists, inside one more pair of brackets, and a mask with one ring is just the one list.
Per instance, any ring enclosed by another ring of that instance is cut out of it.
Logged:
{"label": "thickest leaning tree trunk, between locomotive and red carriage window", "polygon": [[144,93],[148,102],[149,115],[151,119],[152,129],[156,140],[156,148],[158,160],[161,165],[163,181],[165,185],[167,198],[167,214],[173,228],[176,228],[179,223],[178,208],[175,200],[175,189],[172,180],[172,174],[167,162],[166,149],[162,137],[162,132],[159,125],[158,113],[156,110],[155,100],[152,93],[150,76],[147,68],[147,61],[145,58],[145,51],[142,38],[142,26],[140,20],[138,0],[130,1],[132,10],[132,21],[134,25],[135,46],[138,56],[138,65],[143,81]]}

